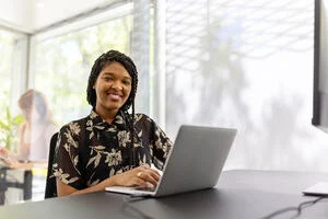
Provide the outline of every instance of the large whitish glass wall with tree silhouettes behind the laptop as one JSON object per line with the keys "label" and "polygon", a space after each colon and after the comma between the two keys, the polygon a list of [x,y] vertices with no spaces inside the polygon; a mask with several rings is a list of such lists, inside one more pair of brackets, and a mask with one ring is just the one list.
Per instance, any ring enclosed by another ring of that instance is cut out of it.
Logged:
{"label": "large whitish glass wall with tree silhouettes behind the laptop", "polygon": [[311,125],[314,2],[167,1],[166,125],[238,129],[226,168],[327,171]]}

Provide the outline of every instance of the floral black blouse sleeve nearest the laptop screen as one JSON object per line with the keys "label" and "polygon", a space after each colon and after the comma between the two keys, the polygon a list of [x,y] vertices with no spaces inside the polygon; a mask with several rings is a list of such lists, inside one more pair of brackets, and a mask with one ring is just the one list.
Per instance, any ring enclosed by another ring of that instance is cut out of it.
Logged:
{"label": "floral black blouse sleeve nearest the laptop screen", "polygon": [[173,147],[172,141],[166,136],[166,134],[155,124],[155,122],[151,120],[153,131],[152,131],[152,150],[153,150],[153,163],[154,165],[163,170],[164,163],[168,155],[171,148]]}

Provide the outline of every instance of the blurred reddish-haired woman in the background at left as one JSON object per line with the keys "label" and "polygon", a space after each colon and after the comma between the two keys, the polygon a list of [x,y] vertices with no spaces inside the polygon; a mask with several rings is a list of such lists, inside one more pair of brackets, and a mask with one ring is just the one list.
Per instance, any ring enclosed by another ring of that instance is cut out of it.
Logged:
{"label": "blurred reddish-haired woman in the background at left", "polygon": [[17,153],[2,148],[0,154],[10,158],[9,165],[16,164],[16,161],[47,161],[50,138],[57,129],[45,96],[30,89],[19,99],[19,106],[25,122],[20,126]]}

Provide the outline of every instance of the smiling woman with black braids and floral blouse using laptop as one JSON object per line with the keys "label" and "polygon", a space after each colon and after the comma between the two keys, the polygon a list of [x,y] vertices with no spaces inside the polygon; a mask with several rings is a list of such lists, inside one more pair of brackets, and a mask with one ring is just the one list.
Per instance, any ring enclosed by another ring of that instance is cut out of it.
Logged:
{"label": "smiling woman with black braids and floral blouse using laptop", "polygon": [[[105,191],[107,186],[156,186],[172,142],[147,115],[134,115],[138,71],[117,50],[98,57],[91,70],[89,116],[60,129],[52,165],[58,196]],[[131,114],[128,110],[132,106]]]}

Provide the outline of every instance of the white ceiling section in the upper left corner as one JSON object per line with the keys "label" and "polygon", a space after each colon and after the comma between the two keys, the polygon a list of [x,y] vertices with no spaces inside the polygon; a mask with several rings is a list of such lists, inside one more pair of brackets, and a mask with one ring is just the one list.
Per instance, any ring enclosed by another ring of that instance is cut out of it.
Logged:
{"label": "white ceiling section in the upper left corner", "polygon": [[0,0],[0,26],[34,33],[109,2],[113,0]]}

